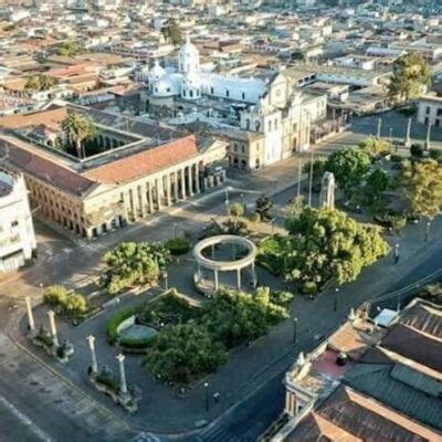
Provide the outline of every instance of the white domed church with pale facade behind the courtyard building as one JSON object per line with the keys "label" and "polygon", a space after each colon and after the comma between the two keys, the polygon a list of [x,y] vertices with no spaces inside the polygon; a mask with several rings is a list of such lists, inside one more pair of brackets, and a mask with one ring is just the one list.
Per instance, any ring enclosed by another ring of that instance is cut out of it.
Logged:
{"label": "white domed church with pale facade behind the courtyard building", "polygon": [[189,38],[177,65],[165,70],[156,62],[138,74],[147,83],[149,116],[227,140],[233,168],[256,170],[308,149],[313,125],[326,119],[327,96],[299,90],[292,72],[253,77],[203,71]]}

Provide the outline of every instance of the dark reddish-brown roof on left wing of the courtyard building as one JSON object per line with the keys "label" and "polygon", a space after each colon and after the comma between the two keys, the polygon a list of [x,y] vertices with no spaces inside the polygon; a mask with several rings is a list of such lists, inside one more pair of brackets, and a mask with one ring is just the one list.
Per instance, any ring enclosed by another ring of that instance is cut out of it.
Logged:
{"label": "dark reddish-brown roof on left wing of the courtyard building", "polygon": [[0,140],[0,149],[8,146],[8,161],[49,185],[74,196],[82,196],[95,187],[95,182],[24,148]]}

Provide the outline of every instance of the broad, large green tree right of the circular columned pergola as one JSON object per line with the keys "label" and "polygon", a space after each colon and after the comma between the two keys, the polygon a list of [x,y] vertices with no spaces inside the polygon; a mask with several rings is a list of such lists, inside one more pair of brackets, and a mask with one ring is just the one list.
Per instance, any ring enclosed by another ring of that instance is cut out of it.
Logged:
{"label": "broad, large green tree right of the circular columned pergola", "polygon": [[334,278],[355,281],[361,270],[387,254],[389,246],[379,228],[361,224],[345,212],[305,207],[286,218],[287,238],[277,238],[278,249],[263,251],[264,259],[278,260],[285,276],[302,286],[320,287]]}

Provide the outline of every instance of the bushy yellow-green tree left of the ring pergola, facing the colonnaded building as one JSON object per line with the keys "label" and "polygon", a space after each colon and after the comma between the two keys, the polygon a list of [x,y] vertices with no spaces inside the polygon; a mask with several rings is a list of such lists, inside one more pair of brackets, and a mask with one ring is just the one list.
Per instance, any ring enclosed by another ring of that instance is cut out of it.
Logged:
{"label": "bushy yellow-green tree left of the ring pergola, facing the colonnaded building", "polygon": [[134,285],[156,282],[166,270],[170,254],[159,243],[122,242],[103,260],[108,269],[102,277],[102,285],[114,295]]}

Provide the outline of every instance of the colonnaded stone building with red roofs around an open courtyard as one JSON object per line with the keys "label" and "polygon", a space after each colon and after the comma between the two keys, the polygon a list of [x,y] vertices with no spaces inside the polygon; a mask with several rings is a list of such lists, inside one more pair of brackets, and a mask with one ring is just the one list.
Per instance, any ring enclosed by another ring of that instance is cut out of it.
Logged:
{"label": "colonnaded stone building with red roofs around an open courtyard", "polygon": [[[56,130],[76,112],[98,131],[94,155],[80,160],[60,147],[59,137],[35,137],[34,128]],[[196,138],[165,126],[66,103],[25,116],[0,118],[0,149],[24,175],[35,214],[87,239],[138,221],[224,179],[219,167],[225,143]],[[54,145],[55,144],[55,145]]]}

